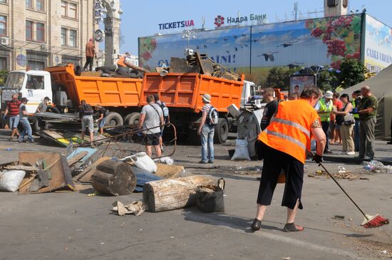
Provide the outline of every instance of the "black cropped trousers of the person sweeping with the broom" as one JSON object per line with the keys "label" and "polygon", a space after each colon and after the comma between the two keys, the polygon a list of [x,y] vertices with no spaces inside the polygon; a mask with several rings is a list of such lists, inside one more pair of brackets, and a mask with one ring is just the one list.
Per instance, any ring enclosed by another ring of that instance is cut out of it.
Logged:
{"label": "black cropped trousers of the person sweeping with the broom", "polygon": [[275,150],[264,145],[264,162],[262,180],[260,181],[257,203],[270,205],[274,189],[280,172],[283,170],[286,176],[282,206],[294,209],[296,200],[299,199],[299,209],[302,209],[301,194],[304,184],[304,164],[291,155]]}

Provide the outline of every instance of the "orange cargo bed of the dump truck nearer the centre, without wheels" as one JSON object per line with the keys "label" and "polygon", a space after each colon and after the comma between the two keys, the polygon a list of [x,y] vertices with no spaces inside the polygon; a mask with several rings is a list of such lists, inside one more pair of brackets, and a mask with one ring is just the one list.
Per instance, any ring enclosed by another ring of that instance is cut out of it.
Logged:
{"label": "orange cargo bed of the dump truck nearer the centre, without wheels", "polygon": [[195,113],[202,110],[203,94],[211,95],[211,103],[219,112],[227,113],[227,107],[239,107],[244,76],[241,81],[215,78],[199,73],[145,73],[140,105],[147,104],[145,97],[158,93],[169,108],[188,108]]}

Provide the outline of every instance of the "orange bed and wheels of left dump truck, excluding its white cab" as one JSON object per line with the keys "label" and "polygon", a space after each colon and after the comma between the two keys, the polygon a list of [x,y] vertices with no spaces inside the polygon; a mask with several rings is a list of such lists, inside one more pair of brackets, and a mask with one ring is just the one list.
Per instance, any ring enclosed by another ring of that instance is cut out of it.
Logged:
{"label": "orange bed and wheels of left dump truck, excluding its white cab", "polygon": [[110,113],[110,125],[133,124],[139,118],[143,79],[76,76],[72,64],[47,68],[50,73],[53,101],[61,110],[78,108],[81,100],[101,105]]}

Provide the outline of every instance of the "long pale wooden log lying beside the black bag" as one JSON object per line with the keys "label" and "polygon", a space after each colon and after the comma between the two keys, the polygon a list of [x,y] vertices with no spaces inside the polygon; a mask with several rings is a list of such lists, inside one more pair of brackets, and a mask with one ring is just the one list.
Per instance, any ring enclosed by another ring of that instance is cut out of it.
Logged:
{"label": "long pale wooden log lying beside the black bag", "polygon": [[196,203],[197,187],[216,185],[217,180],[199,175],[147,182],[143,187],[143,202],[150,212],[181,209]]}

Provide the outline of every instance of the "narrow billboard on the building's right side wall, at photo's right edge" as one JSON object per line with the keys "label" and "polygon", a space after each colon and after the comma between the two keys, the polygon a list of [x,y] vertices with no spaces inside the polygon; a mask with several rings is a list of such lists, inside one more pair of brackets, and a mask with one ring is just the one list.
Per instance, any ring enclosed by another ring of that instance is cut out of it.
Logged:
{"label": "narrow billboard on the building's right side wall, at photo's right edge", "polygon": [[366,15],[365,66],[371,72],[380,72],[392,63],[392,29]]}

